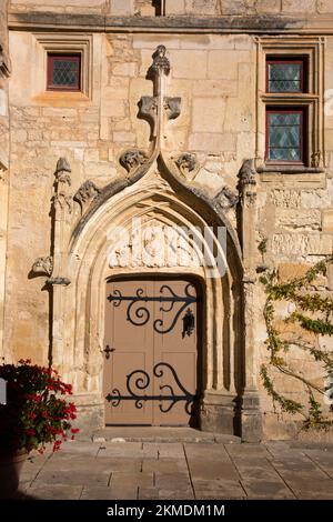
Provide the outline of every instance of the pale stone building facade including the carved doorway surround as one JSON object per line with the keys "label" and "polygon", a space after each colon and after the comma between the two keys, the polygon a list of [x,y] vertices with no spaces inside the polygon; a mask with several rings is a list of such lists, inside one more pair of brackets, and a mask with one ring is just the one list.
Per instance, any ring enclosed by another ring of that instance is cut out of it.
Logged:
{"label": "pale stone building facade including the carved doorway surround", "polygon": [[[52,362],[81,424],[102,426],[105,284],[192,278],[201,428],[290,436],[259,378],[258,245],[286,278],[332,254],[333,1],[11,0],[0,24],[0,354]],[[50,88],[57,56],[79,57],[77,89]],[[306,87],[270,91],[270,61],[301,63]],[[270,161],[266,114],[286,109],[306,120],[302,161]],[[160,227],[149,260],[114,232],[139,218]],[[168,227],[196,231],[202,262],[193,238],[191,262],[157,255]],[[333,291],[333,273],[321,284]]]}

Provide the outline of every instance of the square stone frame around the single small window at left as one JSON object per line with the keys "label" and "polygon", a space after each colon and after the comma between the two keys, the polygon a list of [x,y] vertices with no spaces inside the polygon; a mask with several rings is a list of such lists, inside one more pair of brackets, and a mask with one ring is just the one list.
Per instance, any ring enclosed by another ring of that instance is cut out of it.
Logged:
{"label": "square stone frame around the single small window at left", "polygon": [[[60,96],[72,100],[89,100],[92,97],[92,34],[34,33],[37,46],[37,64],[42,71],[37,74],[37,92],[46,98]],[[80,54],[80,90],[48,89],[49,54]]]}

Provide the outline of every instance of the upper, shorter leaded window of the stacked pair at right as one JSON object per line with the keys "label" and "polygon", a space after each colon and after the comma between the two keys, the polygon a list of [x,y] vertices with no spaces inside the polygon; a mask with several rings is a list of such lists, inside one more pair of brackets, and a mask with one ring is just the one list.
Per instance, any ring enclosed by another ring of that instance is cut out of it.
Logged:
{"label": "upper, shorter leaded window of the stacked pair at right", "polygon": [[305,59],[290,60],[283,57],[268,59],[268,92],[305,92]]}

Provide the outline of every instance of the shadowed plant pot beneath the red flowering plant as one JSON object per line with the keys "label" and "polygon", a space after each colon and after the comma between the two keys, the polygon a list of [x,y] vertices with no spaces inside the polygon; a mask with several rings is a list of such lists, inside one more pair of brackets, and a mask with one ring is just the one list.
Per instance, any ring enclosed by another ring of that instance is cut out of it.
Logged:
{"label": "shadowed plant pot beneath the red flowering plant", "polygon": [[0,499],[11,499],[18,491],[20,473],[28,452],[0,453]]}

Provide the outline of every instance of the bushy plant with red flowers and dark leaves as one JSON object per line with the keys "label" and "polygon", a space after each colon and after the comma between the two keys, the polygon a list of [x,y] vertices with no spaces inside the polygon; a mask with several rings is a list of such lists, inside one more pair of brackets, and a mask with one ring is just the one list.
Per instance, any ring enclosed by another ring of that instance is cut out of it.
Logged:
{"label": "bushy plant with red flowers and dark leaves", "polygon": [[63,396],[72,394],[72,387],[60,380],[57,370],[22,359],[18,364],[0,364],[0,378],[8,382],[7,404],[0,404],[1,448],[42,453],[52,442],[58,451],[61,440],[79,431],[71,423],[77,408]]}

